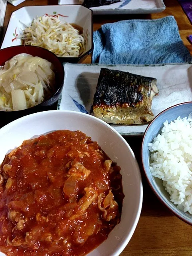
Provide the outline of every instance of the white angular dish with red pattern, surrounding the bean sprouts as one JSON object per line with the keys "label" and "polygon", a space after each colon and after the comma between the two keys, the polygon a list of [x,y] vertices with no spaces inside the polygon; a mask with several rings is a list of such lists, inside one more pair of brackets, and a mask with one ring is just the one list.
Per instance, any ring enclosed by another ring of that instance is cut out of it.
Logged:
{"label": "white angular dish with red pattern, surrounding the bean sprouts", "polygon": [[43,16],[44,14],[56,16],[60,20],[65,20],[70,24],[76,24],[83,28],[83,34],[86,43],[86,49],[80,57],[60,57],[64,62],[77,63],[80,58],[90,54],[93,49],[92,42],[92,10],[81,5],[45,5],[45,6],[26,6],[12,12],[10,21],[2,42],[1,49],[22,45],[22,40],[16,36],[22,34],[25,25],[29,26],[34,18]]}

